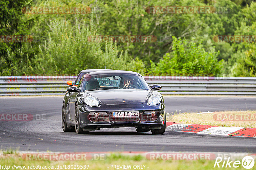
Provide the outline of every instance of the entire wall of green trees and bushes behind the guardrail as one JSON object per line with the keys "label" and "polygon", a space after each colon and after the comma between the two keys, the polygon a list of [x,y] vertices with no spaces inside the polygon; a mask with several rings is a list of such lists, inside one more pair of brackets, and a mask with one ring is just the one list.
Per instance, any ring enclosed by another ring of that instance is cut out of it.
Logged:
{"label": "entire wall of green trees and bushes behind the guardrail", "polygon": [[[108,68],[141,74],[256,76],[255,43],[216,42],[256,35],[254,0],[12,0],[0,2],[0,75],[77,74]],[[26,6],[89,6],[86,14],[24,14]],[[214,13],[148,13],[150,6],[213,6]],[[96,35],[150,35],[153,42],[88,41]]]}

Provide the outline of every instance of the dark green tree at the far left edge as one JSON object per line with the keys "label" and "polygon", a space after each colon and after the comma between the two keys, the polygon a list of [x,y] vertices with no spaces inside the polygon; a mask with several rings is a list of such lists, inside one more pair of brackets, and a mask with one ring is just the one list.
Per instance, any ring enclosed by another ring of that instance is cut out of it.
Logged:
{"label": "dark green tree at the far left edge", "polygon": [[[28,35],[33,19],[25,19],[22,8],[27,0],[0,1],[0,35]],[[21,42],[0,42],[0,74],[17,75],[28,60],[28,53],[22,50]]]}

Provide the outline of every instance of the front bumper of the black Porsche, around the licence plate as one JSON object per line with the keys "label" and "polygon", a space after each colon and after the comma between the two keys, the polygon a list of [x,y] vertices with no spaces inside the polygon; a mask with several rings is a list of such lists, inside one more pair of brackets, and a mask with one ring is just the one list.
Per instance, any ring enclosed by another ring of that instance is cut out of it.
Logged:
{"label": "front bumper of the black Porsche, around the licence plate", "polygon": [[[113,118],[113,111],[139,111],[139,117]],[[152,116],[151,111],[155,111],[156,115]],[[95,112],[100,114],[98,118],[94,117]],[[161,103],[156,106],[139,104],[136,107],[134,105],[129,106],[128,104],[123,106],[79,107],[80,126],[84,130],[90,131],[109,127],[148,126],[150,129],[158,129],[164,125],[164,115],[164,105]]]}

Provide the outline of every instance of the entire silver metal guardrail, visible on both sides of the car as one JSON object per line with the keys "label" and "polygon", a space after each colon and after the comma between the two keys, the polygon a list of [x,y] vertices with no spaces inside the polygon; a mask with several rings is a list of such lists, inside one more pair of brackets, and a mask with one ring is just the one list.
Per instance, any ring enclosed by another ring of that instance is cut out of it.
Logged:
{"label": "entire silver metal guardrail, visible on both sides of the car", "polygon": [[[256,95],[255,77],[145,76],[149,85],[162,86],[162,94]],[[0,96],[64,95],[66,81],[76,76],[0,77]]]}

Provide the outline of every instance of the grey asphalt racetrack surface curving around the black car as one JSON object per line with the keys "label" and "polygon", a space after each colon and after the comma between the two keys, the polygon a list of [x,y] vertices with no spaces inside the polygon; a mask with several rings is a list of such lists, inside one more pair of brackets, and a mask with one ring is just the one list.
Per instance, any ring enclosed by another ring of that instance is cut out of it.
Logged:
{"label": "grey asphalt racetrack surface curving around the black car", "polygon": [[[255,97],[164,97],[166,112],[255,110]],[[0,114],[32,114],[37,120],[0,121],[1,149],[20,151],[107,152],[256,152],[256,139],[166,131],[137,133],[135,128],[108,128],[89,135],[63,132],[63,97],[2,97]]]}

